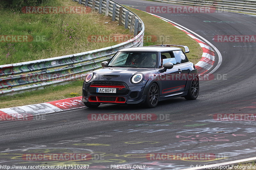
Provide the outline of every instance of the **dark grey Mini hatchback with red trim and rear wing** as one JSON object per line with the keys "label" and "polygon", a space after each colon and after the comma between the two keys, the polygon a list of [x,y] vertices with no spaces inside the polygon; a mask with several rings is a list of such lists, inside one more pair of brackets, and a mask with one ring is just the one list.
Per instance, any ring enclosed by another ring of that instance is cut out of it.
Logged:
{"label": "dark grey Mini hatchback with red trim and rear wing", "polygon": [[187,46],[180,45],[119,50],[110,61],[101,63],[103,68],[86,76],[82,101],[87,107],[101,103],[156,107],[159,101],[176,97],[194,100],[199,77],[185,55],[188,52]]}

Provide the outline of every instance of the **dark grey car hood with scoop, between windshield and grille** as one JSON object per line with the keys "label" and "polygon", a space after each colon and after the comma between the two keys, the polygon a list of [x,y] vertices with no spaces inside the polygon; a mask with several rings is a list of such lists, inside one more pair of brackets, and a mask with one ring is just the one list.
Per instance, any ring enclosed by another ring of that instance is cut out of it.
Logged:
{"label": "dark grey car hood with scoop, between windshield and grille", "polygon": [[94,76],[92,81],[122,81],[128,86],[134,85],[131,83],[131,78],[134,74],[142,73],[144,80],[137,85],[144,85],[147,80],[156,74],[154,69],[140,68],[102,68],[93,71]]}

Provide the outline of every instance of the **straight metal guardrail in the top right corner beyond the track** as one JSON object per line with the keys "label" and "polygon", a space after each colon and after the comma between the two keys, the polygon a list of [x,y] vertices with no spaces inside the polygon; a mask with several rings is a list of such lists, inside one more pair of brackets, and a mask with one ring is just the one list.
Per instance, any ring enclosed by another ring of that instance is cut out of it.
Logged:
{"label": "straight metal guardrail in the top right corner beyond the track", "polygon": [[208,6],[216,10],[256,14],[256,0],[151,0],[179,5]]}

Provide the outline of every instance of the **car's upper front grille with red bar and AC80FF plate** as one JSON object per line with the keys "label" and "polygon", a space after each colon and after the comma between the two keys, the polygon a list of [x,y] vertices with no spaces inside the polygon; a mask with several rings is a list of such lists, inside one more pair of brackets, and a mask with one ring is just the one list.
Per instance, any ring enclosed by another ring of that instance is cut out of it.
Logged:
{"label": "car's upper front grille with red bar and AC80FF plate", "polygon": [[[97,92],[97,88],[116,88],[116,93],[99,93]],[[94,81],[88,87],[88,92],[90,94],[101,94],[101,95],[127,95],[129,92],[128,86],[123,82],[115,82],[115,81]]]}

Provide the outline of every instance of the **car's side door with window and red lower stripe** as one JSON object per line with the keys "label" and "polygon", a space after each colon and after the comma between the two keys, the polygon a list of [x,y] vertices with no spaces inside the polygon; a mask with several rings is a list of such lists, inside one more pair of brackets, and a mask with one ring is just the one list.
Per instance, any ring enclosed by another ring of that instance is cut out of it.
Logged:
{"label": "car's side door with window and red lower stripe", "polygon": [[165,72],[163,72],[163,68],[158,70],[157,76],[159,76],[162,84],[161,96],[184,91],[185,85],[183,85],[180,80],[177,80],[177,76],[179,77],[182,69],[180,65],[177,64],[172,51],[163,52],[161,55],[166,56],[166,59],[163,59],[163,64],[169,62],[173,63],[172,69],[167,69]]}

